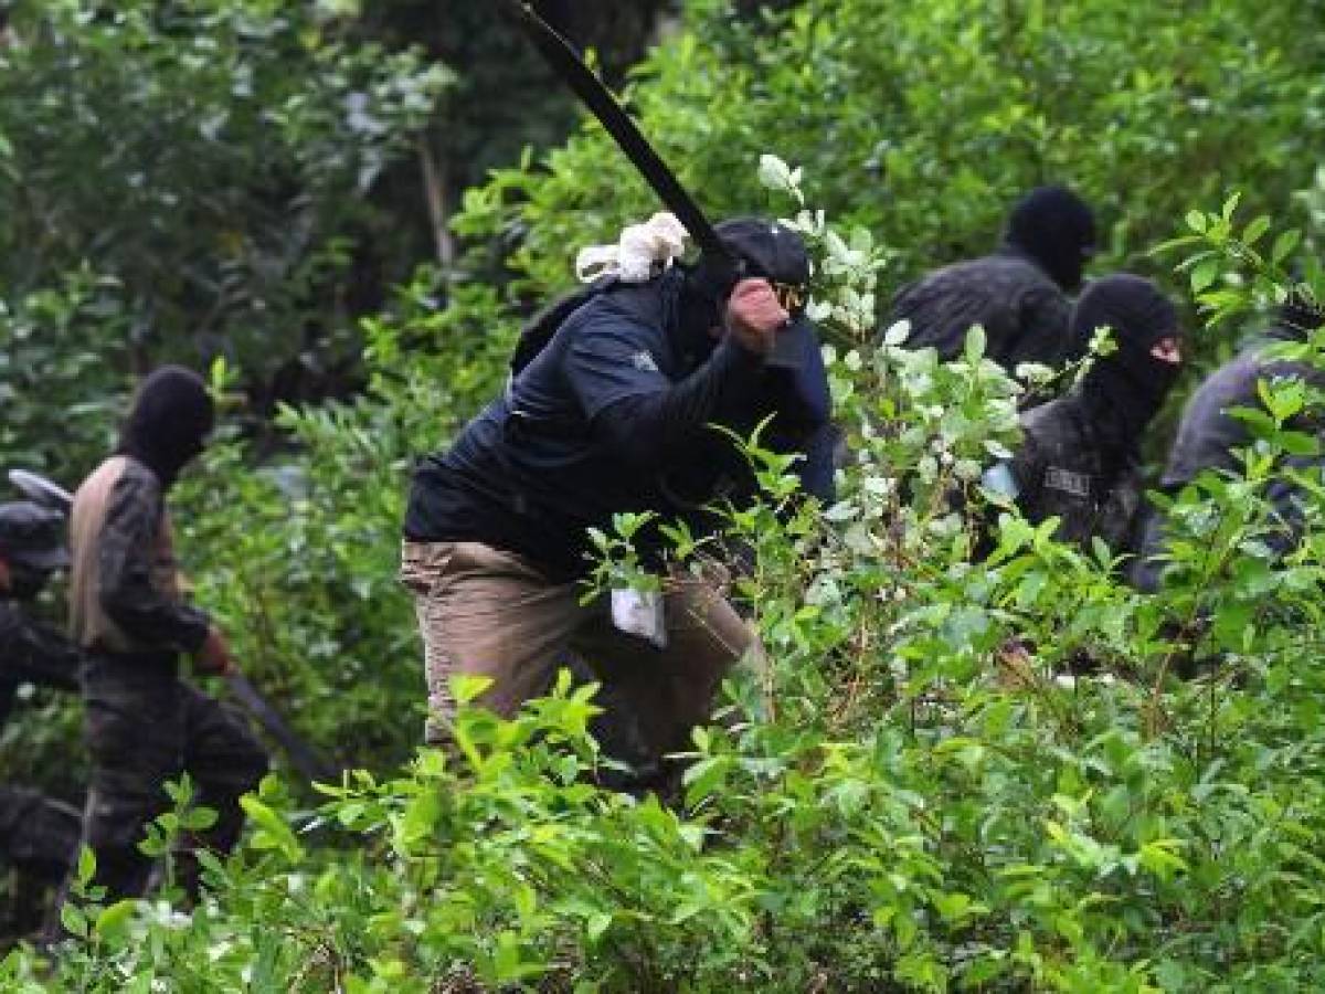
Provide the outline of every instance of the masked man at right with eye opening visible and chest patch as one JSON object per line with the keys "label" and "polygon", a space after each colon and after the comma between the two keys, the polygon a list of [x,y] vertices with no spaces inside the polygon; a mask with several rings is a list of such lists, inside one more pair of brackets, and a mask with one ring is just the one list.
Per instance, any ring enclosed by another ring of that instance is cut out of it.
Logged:
{"label": "masked man at right with eye opening visible and chest patch", "polygon": [[1092,282],[1072,311],[1072,334],[1113,331],[1116,350],[1068,395],[1022,414],[1023,441],[986,473],[1032,524],[1057,516],[1057,537],[1136,551],[1142,526],[1141,441],[1178,378],[1178,313],[1149,280],[1120,273]]}

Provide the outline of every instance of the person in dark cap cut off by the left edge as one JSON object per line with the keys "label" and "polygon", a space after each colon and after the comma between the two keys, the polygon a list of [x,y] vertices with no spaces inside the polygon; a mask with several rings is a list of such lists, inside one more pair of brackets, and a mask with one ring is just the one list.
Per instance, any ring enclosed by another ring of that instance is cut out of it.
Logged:
{"label": "person in dark cap cut off by the left edge", "polygon": [[[62,514],[28,501],[0,504],[0,726],[24,684],[78,689],[82,655],[21,607],[68,565]],[[77,808],[36,790],[0,786],[0,860],[58,884],[78,834]]]}

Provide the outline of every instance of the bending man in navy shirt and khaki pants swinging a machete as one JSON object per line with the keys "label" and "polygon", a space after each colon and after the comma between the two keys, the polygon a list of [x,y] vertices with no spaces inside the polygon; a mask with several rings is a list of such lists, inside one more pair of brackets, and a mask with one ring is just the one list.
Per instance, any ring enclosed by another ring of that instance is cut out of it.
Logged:
{"label": "bending man in navy shirt and khaki pants swinging a machete", "polygon": [[478,702],[510,716],[574,653],[604,685],[608,724],[632,726],[657,758],[705,721],[729,667],[759,657],[717,587],[690,575],[665,580],[661,623],[619,611],[617,627],[611,598],[580,603],[588,529],[751,493],[739,453],[710,425],[743,433],[771,416],[765,444],[807,456],[807,489],[831,488],[827,379],[800,313],[804,244],[755,219],[717,232],[746,278],[733,286],[702,258],[668,266],[673,245],[652,269],[600,280],[553,310],[541,350],[517,350],[505,395],[419,465],[401,580],[423,634],[429,741],[445,741],[454,675],[490,677]]}

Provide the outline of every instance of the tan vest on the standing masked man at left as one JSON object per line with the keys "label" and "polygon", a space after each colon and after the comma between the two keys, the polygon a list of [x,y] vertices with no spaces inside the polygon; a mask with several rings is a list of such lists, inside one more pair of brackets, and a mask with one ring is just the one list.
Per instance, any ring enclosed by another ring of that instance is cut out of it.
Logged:
{"label": "tan vest on the standing masked man at left", "polygon": [[[69,634],[85,649],[102,652],[138,652],[151,647],[138,645],[102,607],[99,577],[101,547],[106,531],[115,484],[126,473],[148,473],[129,456],[111,456],[89,476],[78,493],[69,517]],[[155,484],[155,478],[154,478]],[[175,543],[170,514],[156,488],[156,530],[152,537],[151,584],[164,596],[180,595],[175,563]]]}

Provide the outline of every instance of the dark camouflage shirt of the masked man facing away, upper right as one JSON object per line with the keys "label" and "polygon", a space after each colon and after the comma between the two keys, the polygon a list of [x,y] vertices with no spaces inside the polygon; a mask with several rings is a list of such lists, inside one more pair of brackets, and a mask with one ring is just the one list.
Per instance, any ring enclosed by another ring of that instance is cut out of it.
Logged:
{"label": "dark camouflage shirt of the masked man facing away, upper right", "polygon": [[1071,306],[1063,290],[1014,249],[943,266],[904,286],[889,325],[910,321],[908,349],[933,346],[955,359],[971,325],[984,329],[984,354],[1012,371],[1036,362],[1053,368],[1077,358],[1085,343],[1069,341]]}

